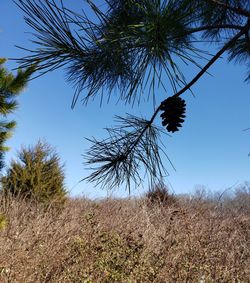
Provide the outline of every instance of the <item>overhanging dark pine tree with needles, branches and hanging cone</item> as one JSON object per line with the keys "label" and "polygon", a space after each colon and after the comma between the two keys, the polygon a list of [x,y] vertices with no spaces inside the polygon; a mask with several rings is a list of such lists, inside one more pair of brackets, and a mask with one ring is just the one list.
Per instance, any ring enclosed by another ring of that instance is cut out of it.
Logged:
{"label": "overhanging dark pine tree with needles, branches and hanging cone", "polygon": [[[86,179],[103,186],[125,183],[130,189],[131,181],[138,185],[144,173],[158,182],[167,173],[159,140],[163,129],[153,125],[158,114],[168,131],[179,130],[186,110],[180,96],[223,53],[250,68],[249,0],[104,0],[100,7],[87,0],[91,17],[66,8],[63,1],[15,2],[34,30],[34,47],[19,63],[36,63],[38,75],[64,67],[75,86],[72,107],[83,90],[83,103],[109,98],[118,89],[119,98],[133,104],[145,89],[153,99],[159,86],[172,89],[151,118],[117,117],[118,126],[107,129],[107,139],[90,140],[85,157],[96,167]],[[217,44],[219,51],[210,54],[197,45],[201,41]],[[200,65],[197,59],[207,62]],[[189,82],[182,72],[185,64],[198,67]]]}

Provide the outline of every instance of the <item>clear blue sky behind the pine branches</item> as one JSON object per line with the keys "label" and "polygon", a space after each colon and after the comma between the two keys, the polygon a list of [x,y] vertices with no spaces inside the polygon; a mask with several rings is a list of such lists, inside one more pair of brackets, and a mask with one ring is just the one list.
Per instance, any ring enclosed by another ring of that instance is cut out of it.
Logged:
{"label": "clear blue sky behind the pine branches", "polygon": [[[65,3],[71,1],[65,0]],[[84,1],[74,4],[78,8]],[[83,7],[83,6],[82,6]],[[0,57],[21,57],[25,53],[14,45],[31,47],[29,27],[22,12],[12,0],[0,2]],[[32,48],[32,47],[31,47]],[[210,48],[207,46],[207,48]],[[8,62],[9,69],[14,62]],[[193,68],[186,69],[193,73]],[[244,83],[246,67],[227,63],[226,56],[211,69],[213,76],[204,76],[189,93],[187,119],[180,132],[166,137],[166,151],[176,171],[166,162],[170,176],[166,183],[175,193],[192,192],[196,185],[205,185],[212,191],[223,190],[235,183],[250,180],[250,92]],[[79,102],[71,110],[74,90],[65,81],[63,71],[56,71],[33,80],[20,95],[19,109],[14,114],[17,128],[8,141],[12,150],[7,161],[15,157],[21,145],[35,144],[46,139],[53,145],[65,163],[66,185],[72,195],[105,196],[106,191],[84,182],[76,185],[88,172],[81,156],[88,148],[84,137],[104,137],[104,127],[113,125],[113,116],[141,113],[150,117],[152,105],[139,108],[115,104],[99,107],[99,101],[84,107]],[[171,92],[169,93],[171,94]],[[140,188],[142,193],[147,188]],[[116,195],[127,193],[117,189]]]}

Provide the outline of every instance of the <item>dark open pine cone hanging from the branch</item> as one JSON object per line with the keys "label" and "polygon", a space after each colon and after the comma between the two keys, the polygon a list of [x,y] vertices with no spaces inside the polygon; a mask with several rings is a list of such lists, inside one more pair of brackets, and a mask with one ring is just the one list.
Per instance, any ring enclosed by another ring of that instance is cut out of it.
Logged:
{"label": "dark open pine cone hanging from the branch", "polygon": [[186,103],[180,97],[169,97],[161,103],[162,125],[167,128],[169,132],[178,131],[184,118],[186,117]]}

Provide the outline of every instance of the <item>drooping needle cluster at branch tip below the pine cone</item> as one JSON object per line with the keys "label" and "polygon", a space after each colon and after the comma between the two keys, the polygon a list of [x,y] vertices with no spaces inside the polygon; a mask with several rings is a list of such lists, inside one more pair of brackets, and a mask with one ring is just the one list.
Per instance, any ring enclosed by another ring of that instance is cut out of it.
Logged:
{"label": "drooping needle cluster at branch tip below the pine cone", "polygon": [[[141,129],[148,124],[147,120],[129,115],[126,118],[117,117],[117,121],[117,127],[106,129],[109,134],[107,139],[87,139],[92,145],[85,154],[85,164],[96,167],[89,168],[94,172],[83,180],[108,189],[125,183],[129,193],[131,183],[139,186],[145,177],[148,177],[151,186],[160,182],[168,174],[160,158],[160,153],[164,153],[158,143],[162,130],[151,123],[138,140]],[[136,146],[132,149],[131,144],[135,141]]]}

